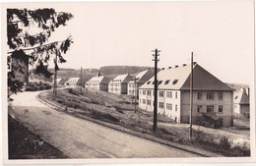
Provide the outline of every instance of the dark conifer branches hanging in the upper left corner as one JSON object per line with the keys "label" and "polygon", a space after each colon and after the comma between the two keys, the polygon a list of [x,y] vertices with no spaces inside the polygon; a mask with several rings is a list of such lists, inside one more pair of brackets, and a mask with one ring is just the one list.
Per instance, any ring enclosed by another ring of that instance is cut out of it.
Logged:
{"label": "dark conifer branches hanging in the upper left corner", "polygon": [[[72,41],[71,35],[65,40],[48,42],[51,33],[60,26],[66,26],[67,21],[73,15],[70,13],[56,12],[54,9],[7,9],[7,44],[11,51],[8,52],[8,69],[11,69],[11,55],[17,50],[23,50],[29,56],[29,64],[36,65],[36,73],[49,78],[51,74],[47,70],[49,59],[52,56],[59,63],[66,60],[62,54],[66,54]],[[54,59],[55,61],[55,59]],[[58,69],[55,61],[55,69]],[[22,83],[13,81],[14,74],[8,73],[8,89],[17,92]]]}

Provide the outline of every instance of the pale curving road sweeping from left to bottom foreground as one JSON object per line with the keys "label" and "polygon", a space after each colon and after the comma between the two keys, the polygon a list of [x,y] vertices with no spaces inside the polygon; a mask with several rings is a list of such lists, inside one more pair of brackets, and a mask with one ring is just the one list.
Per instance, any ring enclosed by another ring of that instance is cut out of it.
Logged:
{"label": "pale curving road sweeping from left to bottom foreground", "polygon": [[58,112],[39,102],[38,93],[13,95],[13,110],[9,113],[71,158],[197,157],[187,151]]}

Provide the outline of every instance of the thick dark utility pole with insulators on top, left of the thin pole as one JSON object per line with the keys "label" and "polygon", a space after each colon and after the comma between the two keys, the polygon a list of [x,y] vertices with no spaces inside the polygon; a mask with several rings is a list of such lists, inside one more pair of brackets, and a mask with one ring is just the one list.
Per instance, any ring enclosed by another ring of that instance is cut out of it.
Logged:
{"label": "thick dark utility pole with insulators on top, left of the thin pole", "polygon": [[158,121],[158,62],[160,61],[160,59],[158,59],[159,52],[160,50],[156,49],[153,50],[153,52],[155,52],[155,55],[153,54],[153,61],[155,61],[155,88],[154,88],[154,92],[155,92],[155,99],[154,99],[154,125],[153,125],[153,130],[154,132],[156,132],[157,130],[157,121]]}

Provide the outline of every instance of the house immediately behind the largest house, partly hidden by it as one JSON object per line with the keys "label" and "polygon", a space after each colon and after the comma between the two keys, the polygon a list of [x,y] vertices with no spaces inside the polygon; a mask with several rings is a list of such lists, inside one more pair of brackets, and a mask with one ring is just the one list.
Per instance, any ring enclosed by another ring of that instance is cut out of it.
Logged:
{"label": "house immediately behind the largest house, partly hidden by it", "polygon": [[[147,69],[138,73],[134,78],[136,81],[134,81],[133,79],[128,83],[127,94],[134,95],[134,96],[137,95],[139,92],[138,87],[140,87],[142,84],[149,81],[153,76],[154,76],[154,72],[152,72],[150,69]],[[137,93],[135,93],[135,90],[137,91]]]}

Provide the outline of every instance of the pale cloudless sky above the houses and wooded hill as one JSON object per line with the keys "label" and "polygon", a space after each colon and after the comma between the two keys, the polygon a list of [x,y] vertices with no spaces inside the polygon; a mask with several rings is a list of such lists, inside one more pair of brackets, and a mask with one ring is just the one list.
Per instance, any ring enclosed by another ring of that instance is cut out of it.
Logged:
{"label": "pale cloudless sky above the houses and wooded hill", "polygon": [[[87,2],[15,4],[31,9],[51,7],[75,16],[49,41],[74,43],[60,68],[110,65],[159,68],[194,61],[224,83],[253,83],[253,1]],[[50,64],[49,67],[51,67]]]}

